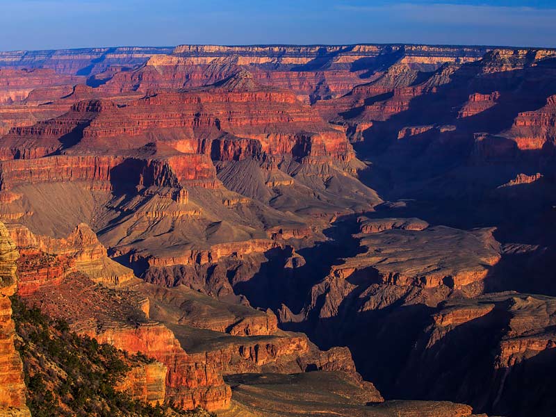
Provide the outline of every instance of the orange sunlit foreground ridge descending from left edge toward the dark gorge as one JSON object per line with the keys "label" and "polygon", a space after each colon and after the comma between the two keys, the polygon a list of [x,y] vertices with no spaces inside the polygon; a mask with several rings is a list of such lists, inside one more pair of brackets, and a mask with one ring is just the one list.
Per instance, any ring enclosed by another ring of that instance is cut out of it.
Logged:
{"label": "orange sunlit foreground ridge descending from left edge toward the dark gorge", "polygon": [[[320,351],[304,334],[277,329],[270,311],[220,302],[184,286],[161,288],[136,278],[108,282],[113,288],[95,284],[85,275],[91,270],[90,259],[93,263],[97,259],[91,255],[96,252],[103,259],[106,251],[96,239],[83,239],[92,234],[84,225],[60,240],[34,236],[22,227],[11,227],[10,234],[22,245],[23,281],[33,279],[32,286],[22,288],[22,300],[53,318],[67,320],[70,329],[81,336],[156,359],[156,378],[165,381],[162,397],[159,389],[157,398],[165,403],[181,409],[197,405],[225,409],[230,391],[221,375],[245,372],[334,370],[375,390],[355,370],[349,350]],[[83,258],[89,263],[79,263]],[[35,279],[39,274],[46,279]],[[76,299],[80,302],[75,303]],[[140,389],[149,372],[130,370],[126,375],[131,382],[118,386],[131,386],[143,395],[140,398],[153,398],[155,393]]]}

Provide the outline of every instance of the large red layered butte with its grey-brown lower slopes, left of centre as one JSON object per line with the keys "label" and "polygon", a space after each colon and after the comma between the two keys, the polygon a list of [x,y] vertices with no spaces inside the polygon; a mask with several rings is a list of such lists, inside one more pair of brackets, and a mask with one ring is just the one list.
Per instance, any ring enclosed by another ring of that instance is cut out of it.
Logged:
{"label": "large red layered butte with its grey-brown lower slopes, left of centre", "polygon": [[2,218],[59,237],[91,223],[138,275],[267,252],[382,201],[341,129],[249,72],[127,104],[79,101],[0,147]]}

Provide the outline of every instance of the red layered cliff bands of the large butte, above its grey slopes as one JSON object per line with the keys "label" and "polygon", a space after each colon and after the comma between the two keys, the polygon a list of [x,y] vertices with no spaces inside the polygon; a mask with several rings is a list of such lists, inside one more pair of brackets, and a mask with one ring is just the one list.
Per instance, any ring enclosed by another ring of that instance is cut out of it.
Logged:
{"label": "red layered cliff bands of the large butte, above its grey slopes", "polygon": [[[88,88],[74,91],[76,96],[88,94]],[[354,159],[343,129],[322,120],[310,106],[298,101],[295,93],[260,85],[249,72],[240,72],[208,87],[147,95],[126,104],[106,99],[79,101],[60,117],[12,129],[1,141],[0,149],[4,160],[17,159],[0,164],[0,188],[12,192],[28,183],[72,182],[86,190],[113,193],[136,188],[144,197],[148,197],[145,188],[151,186],[215,190],[222,185],[216,178],[213,158],[230,166],[238,161],[260,161],[259,169],[268,170],[265,188],[294,186],[291,193],[299,195],[300,190],[307,199],[320,200],[314,205],[307,204],[311,215],[322,217],[322,211],[325,216],[328,212],[341,213],[346,207],[363,211],[379,201],[372,190],[351,177],[363,164]],[[298,184],[292,175],[297,177]],[[235,184],[227,183],[227,187],[241,192],[239,186],[245,183],[239,184],[236,176],[229,178]],[[309,192],[305,184],[313,179],[322,183],[322,193],[327,195],[317,197]],[[257,186],[250,182],[258,181],[258,177],[246,180],[245,185],[256,190]],[[326,183],[330,181],[342,185],[329,187]],[[353,193],[347,199],[336,198],[335,193],[342,189]],[[266,217],[275,217],[267,208],[251,204],[248,198],[260,198],[263,204],[268,204],[270,196],[278,190],[258,195],[245,191],[244,197],[223,193],[222,204],[232,210],[250,205],[252,211],[262,209],[267,211]],[[293,200],[275,201],[281,204]],[[6,210],[3,218],[28,221],[30,215],[19,207],[22,204],[26,203],[12,204],[13,209]],[[206,199],[202,204],[198,200],[188,203],[187,208],[170,207],[152,199],[148,210],[142,205],[145,210],[140,217],[147,218],[147,222],[165,215],[174,219],[203,218],[213,212],[212,207],[203,204]],[[135,208],[117,209],[127,213]],[[284,207],[284,211],[291,210]],[[261,215],[251,218],[261,219]],[[234,222],[237,221],[235,218]],[[275,227],[281,222],[262,223]],[[115,243],[115,237],[109,241]],[[206,247],[195,245],[195,250],[199,246]],[[137,247],[133,249],[141,252]]]}

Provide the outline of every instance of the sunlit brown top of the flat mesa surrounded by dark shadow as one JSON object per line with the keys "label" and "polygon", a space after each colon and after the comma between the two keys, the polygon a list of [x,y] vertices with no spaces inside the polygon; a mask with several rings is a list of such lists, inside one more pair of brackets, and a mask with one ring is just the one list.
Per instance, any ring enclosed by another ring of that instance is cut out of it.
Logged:
{"label": "sunlit brown top of the flat mesa surrounded by dark shadow", "polygon": [[480,283],[489,267],[500,260],[500,247],[489,229],[461,231],[426,227],[426,223],[414,229],[385,227],[383,231],[362,224],[361,229],[366,232],[356,236],[364,252],[332,267],[329,277],[313,288],[313,305],[328,293],[328,302],[320,308],[321,318],[337,313],[343,302],[343,297],[336,299],[338,288],[345,288],[346,296],[361,285],[460,290]]}

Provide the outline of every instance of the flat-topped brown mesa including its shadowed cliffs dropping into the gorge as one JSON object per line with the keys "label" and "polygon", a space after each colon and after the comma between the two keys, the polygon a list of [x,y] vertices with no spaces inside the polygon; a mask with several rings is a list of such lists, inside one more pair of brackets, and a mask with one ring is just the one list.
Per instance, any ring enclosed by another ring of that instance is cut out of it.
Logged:
{"label": "flat-topped brown mesa including its shadowed cliffs dropping into the gorge", "polygon": [[463,231],[416,218],[359,218],[356,227],[359,253],[332,265],[300,313],[282,306],[278,316],[321,348],[346,344],[358,370],[389,390],[402,368],[398,358],[411,352],[430,311],[482,294],[501,249],[492,229]]}

